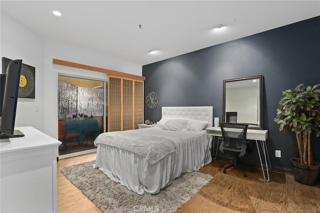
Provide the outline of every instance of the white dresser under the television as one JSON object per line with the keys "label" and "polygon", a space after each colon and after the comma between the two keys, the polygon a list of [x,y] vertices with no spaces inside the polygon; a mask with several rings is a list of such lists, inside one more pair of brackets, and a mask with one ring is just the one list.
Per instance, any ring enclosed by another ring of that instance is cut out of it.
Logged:
{"label": "white dresser under the television", "polygon": [[0,212],[56,213],[58,140],[34,129],[0,141]]}

